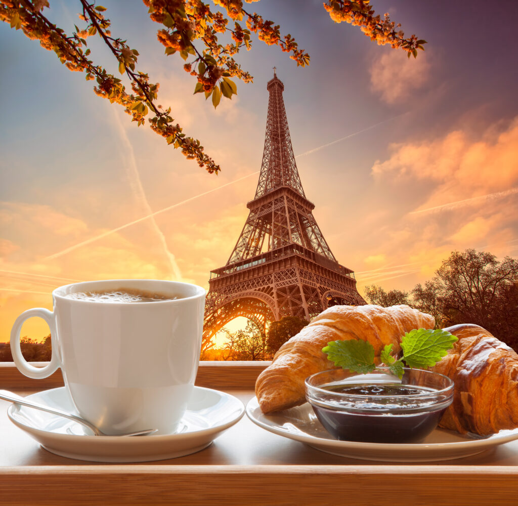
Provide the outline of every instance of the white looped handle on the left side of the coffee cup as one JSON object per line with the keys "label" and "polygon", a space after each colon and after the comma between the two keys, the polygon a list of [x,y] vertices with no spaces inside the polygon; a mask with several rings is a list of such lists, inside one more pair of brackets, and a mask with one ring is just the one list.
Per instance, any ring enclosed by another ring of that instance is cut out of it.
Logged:
{"label": "white looped handle on the left side of the coffee cup", "polygon": [[[34,367],[29,364],[25,358],[23,358],[22,350],[20,347],[20,331],[22,329],[23,322],[25,320],[38,316],[47,322],[50,328],[51,343],[52,343],[52,356],[50,362],[45,367]],[[11,353],[12,359],[15,362],[16,367],[20,372],[28,376],[40,380],[47,378],[53,372],[55,372],[61,366],[61,359],[59,355],[59,348],[57,344],[56,325],[54,320],[54,313],[44,308],[34,308],[24,311],[15,321],[11,330]]]}

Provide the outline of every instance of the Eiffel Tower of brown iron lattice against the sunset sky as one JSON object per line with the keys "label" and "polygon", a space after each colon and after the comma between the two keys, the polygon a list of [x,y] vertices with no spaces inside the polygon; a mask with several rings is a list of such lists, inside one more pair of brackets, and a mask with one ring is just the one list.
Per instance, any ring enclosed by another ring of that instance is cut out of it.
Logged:
{"label": "Eiffel Tower of brown iron lattice against the sunset sky", "polygon": [[298,175],[284,85],[269,92],[263,163],[248,219],[228,262],[210,272],[204,341],[237,316],[260,328],[282,316],[306,320],[336,304],[363,305],[354,272],[340,265],[313,218]]}

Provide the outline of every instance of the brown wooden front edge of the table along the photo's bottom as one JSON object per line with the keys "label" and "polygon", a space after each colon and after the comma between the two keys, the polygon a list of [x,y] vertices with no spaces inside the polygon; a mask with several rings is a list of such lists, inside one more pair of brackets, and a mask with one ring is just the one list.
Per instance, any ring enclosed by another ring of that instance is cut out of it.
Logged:
{"label": "brown wooden front edge of the table along the photo's bottom", "polygon": [[503,466],[15,467],[0,468],[0,504],[514,506],[517,474]]}

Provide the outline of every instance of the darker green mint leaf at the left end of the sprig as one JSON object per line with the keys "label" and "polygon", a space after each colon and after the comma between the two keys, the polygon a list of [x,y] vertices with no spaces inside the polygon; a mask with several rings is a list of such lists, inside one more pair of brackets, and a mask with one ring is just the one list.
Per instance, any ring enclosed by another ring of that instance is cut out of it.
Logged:
{"label": "darker green mint leaf at the left end of the sprig", "polygon": [[374,347],[367,341],[330,341],[322,351],[336,366],[366,374],[375,369]]}

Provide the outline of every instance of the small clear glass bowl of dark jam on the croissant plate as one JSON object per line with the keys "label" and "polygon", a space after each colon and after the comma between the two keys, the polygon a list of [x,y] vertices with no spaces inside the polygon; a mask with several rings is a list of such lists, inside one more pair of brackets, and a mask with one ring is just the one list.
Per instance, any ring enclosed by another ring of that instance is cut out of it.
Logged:
{"label": "small clear glass bowl of dark jam on the croissant plate", "polygon": [[341,441],[416,443],[439,423],[453,400],[453,381],[442,374],[389,368],[368,374],[332,369],[306,379],[306,399],[326,430]]}

